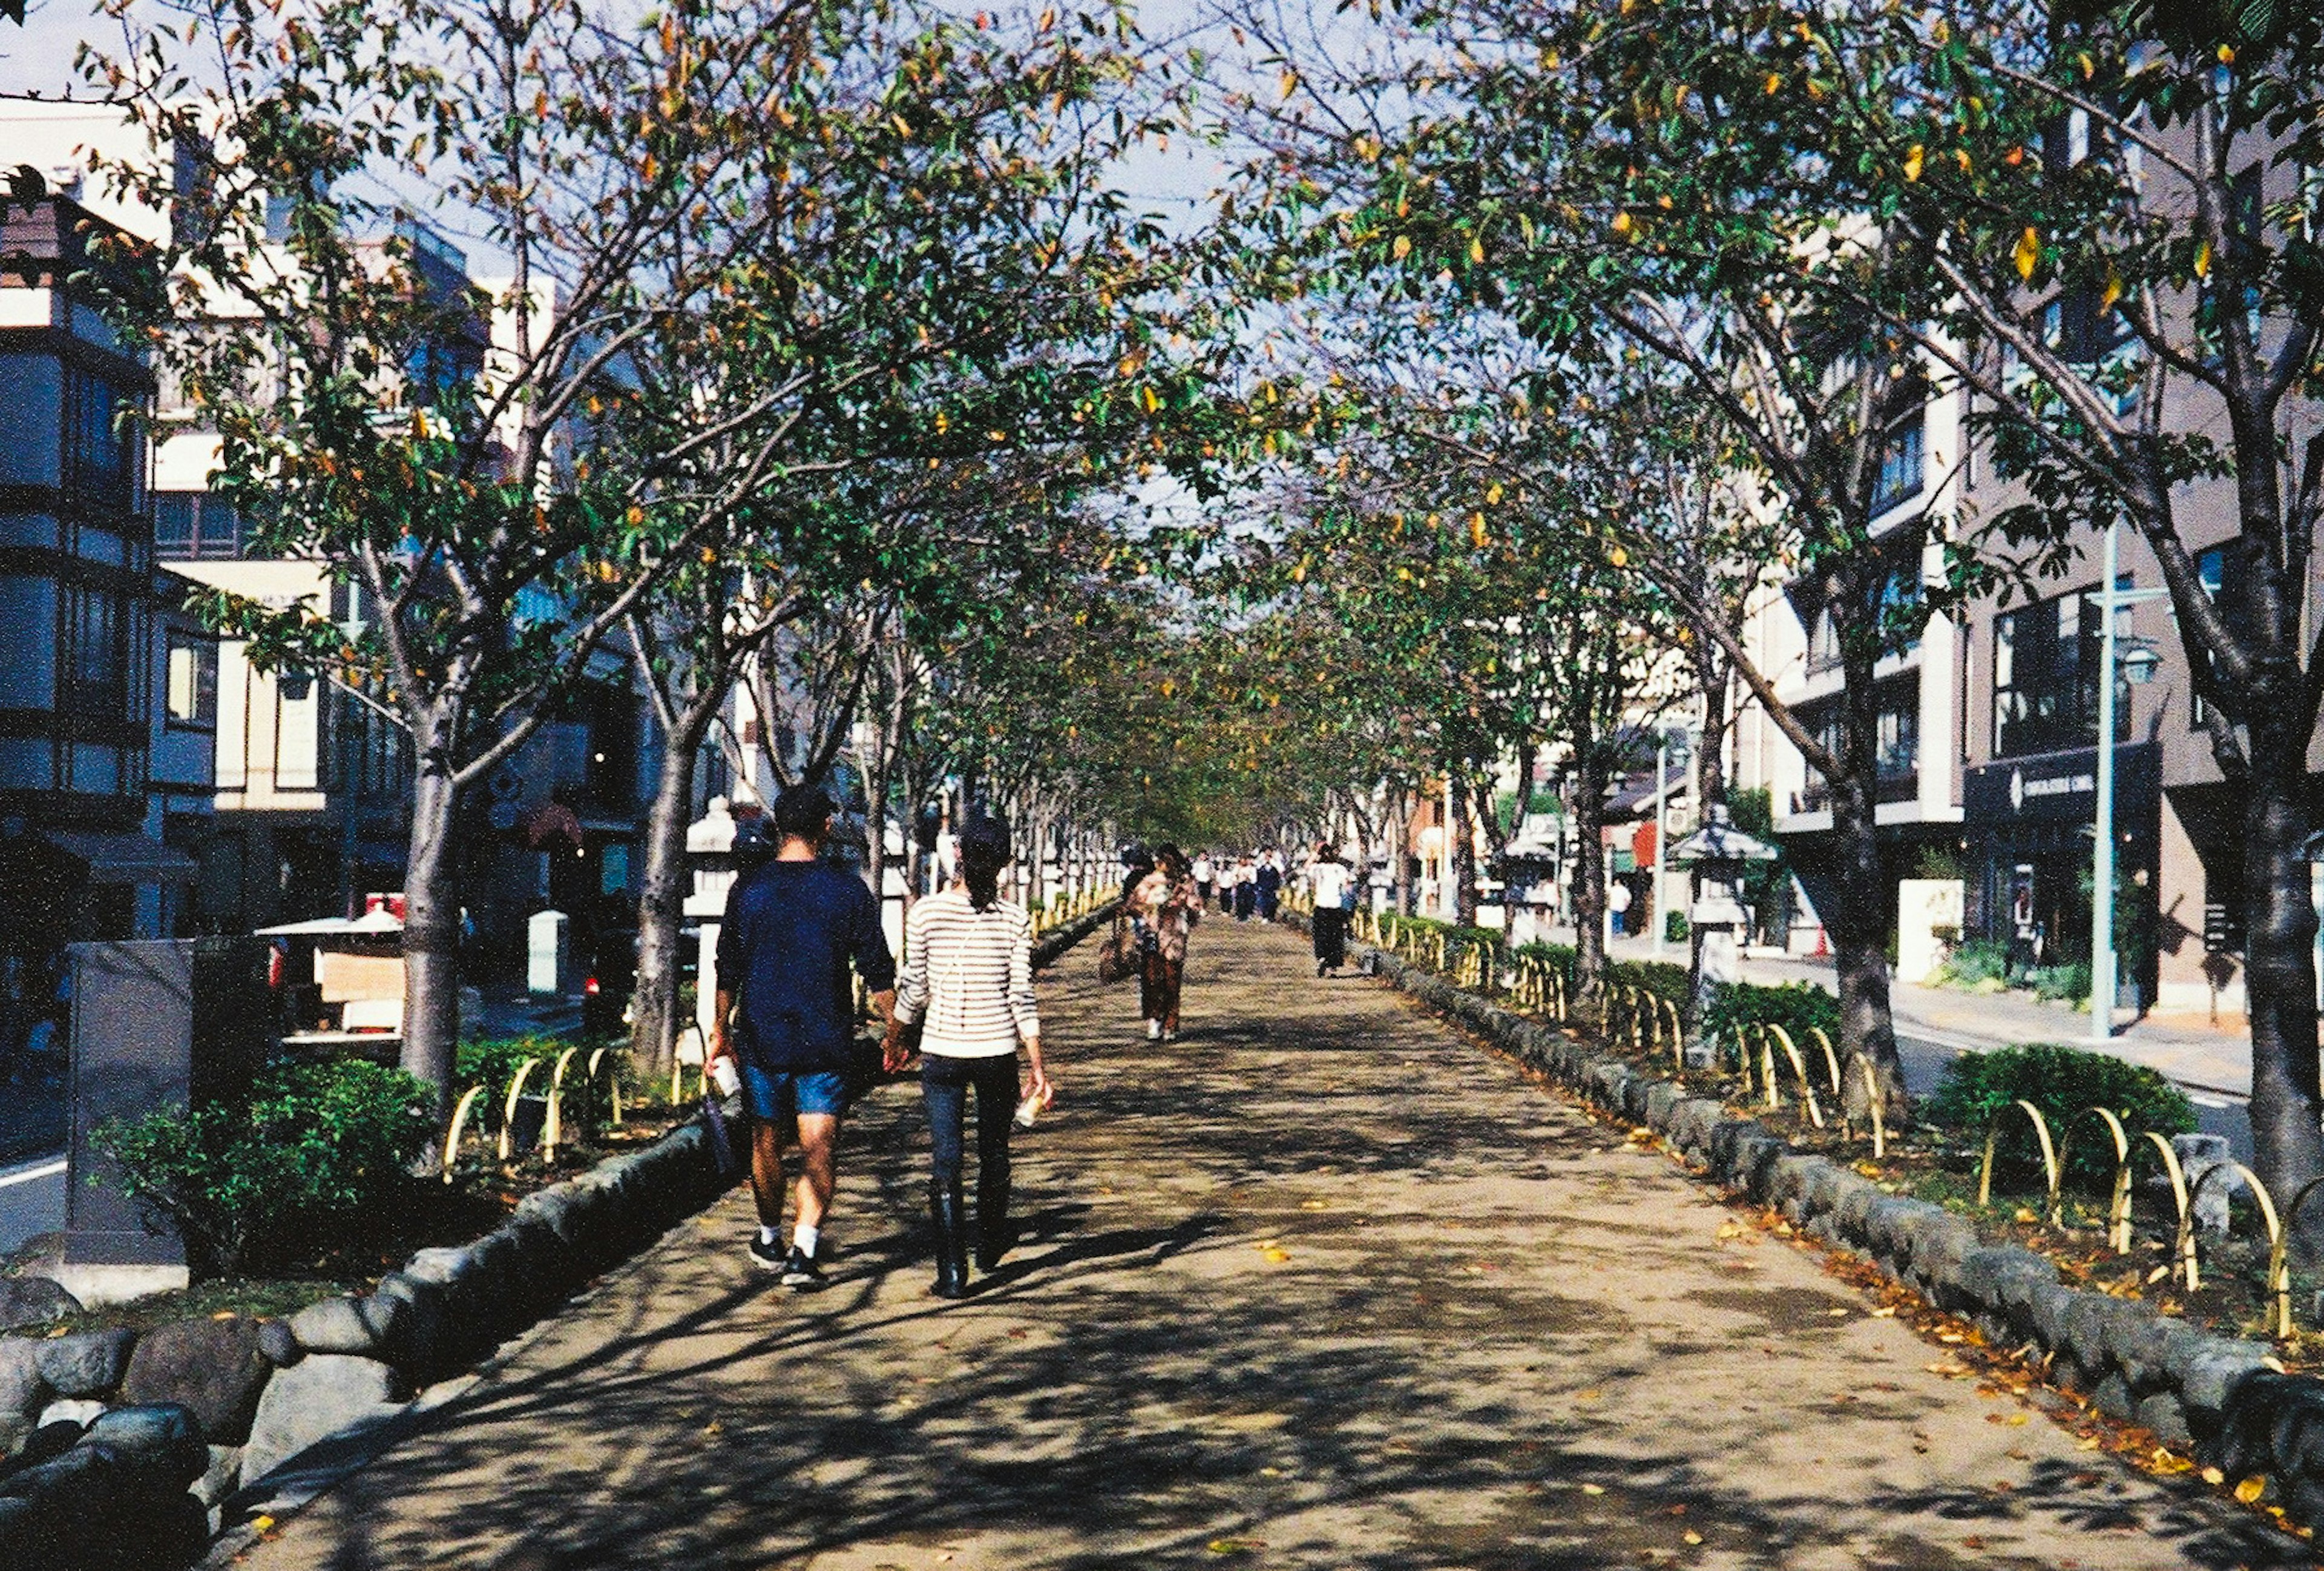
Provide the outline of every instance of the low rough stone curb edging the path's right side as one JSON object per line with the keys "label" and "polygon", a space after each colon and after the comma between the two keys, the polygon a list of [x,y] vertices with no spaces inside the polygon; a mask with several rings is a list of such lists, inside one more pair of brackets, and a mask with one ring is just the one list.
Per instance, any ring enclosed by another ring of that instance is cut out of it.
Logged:
{"label": "low rough stone curb edging the path's right side", "polygon": [[2324,1527],[2324,1380],[2282,1373],[2264,1341],[2219,1336],[2138,1299],[2066,1287],[2017,1243],[1987,1243],[1943,1206],[1887,1195],[1852,1167],[1801,1153],[1757,1118],[1694,1097],[1569,1027],[1492,1004],[1394,953],[1350,946],[1364,969],[1587,1102],[1650,1127],[1710,1181],[1783,1211],[1924,1301],[1971,1320],[1999,1348],[2050,1355],[2052,1383],[2101,1413],[2192,1448],[2229,1478],[2266,1476],[2291,1522]]}

